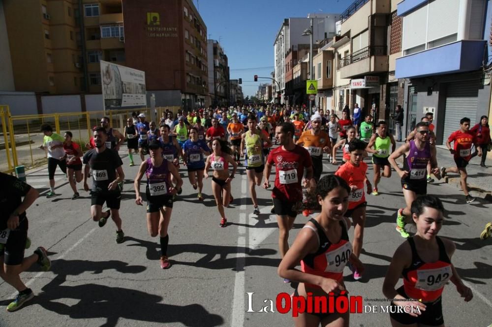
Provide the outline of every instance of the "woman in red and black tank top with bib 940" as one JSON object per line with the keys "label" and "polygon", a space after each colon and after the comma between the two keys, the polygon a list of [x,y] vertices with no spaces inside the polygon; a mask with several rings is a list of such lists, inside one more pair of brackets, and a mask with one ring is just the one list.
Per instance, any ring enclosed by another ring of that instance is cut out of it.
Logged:
{"label": "woman in red and black tank top with bib 940", "polygon": [[[350,262],[364,271],[361,261],[352,253],[347,230],[350,220],[343,217],[348,208],[350,188],[338,176],[327,175],[316,185],[316,197],[321,213],[311,218],[299,232],[292,247],[278,266],[280,277],[299,282],[294,296],[307,298],[307,293],[326,297],[333,292],[336,300],[346,297],[343,284],[343,269]],[[301,262],[301,271],[296,266]],[[306,307],[308,304],[306,304]],[[315,304],[312,303],[313,311]],[[349,326],[349,313],[327,312],[300,313],[294,318],[295,326]]]}

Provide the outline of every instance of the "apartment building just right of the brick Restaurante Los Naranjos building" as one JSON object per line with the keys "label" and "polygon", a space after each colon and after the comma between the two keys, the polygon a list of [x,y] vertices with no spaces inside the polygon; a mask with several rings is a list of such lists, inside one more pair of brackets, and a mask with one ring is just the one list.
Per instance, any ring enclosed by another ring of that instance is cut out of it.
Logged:
{"label": "apartment building just right of the brick Restaurante Los Naranjos building", "polygon": [[209,94],[214,106],[226,105],[229,98],[227,55],[217,40],[207,40]]}

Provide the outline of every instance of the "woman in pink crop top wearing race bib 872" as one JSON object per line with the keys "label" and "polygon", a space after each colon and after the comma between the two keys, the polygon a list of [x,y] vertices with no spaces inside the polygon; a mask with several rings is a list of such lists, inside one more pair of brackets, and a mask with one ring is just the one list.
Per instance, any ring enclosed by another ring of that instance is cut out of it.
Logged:
{"label": "woman in pink crop top wearing race bib 872", "polygon": [[[227,142],[215,139],[212,141],[212,154],[207,158],[205,163],[204,174],[205,178],[209,177],[209,168],[214,170],[212,176],[212,191],[214,192],[215,203],[220,214],[220,227],[227,226],[224,207],[232,202],[231,181],[236,174],[238,164],[231,156],[231,149],[227,146]],[[229,164],[232,164],[232,174],[229,175]]]}

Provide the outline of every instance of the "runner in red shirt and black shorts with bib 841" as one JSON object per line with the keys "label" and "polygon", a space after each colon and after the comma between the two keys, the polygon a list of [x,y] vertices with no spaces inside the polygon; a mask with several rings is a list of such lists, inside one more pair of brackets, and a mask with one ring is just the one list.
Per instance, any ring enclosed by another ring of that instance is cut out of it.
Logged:
{"label": "runner in red shirt and black shorts with bib 841", "polygon": [[[451,142],[454,142],[454,148],[451,148]],[[461,118],[460,129],[453,132],[446,141],[448,150],[454,155],[456,167],[441,167],[441,176],[444,177],[448,172],[454,172],[460,174],[461,189],[465,195],[466,203],[475,201],[475,198],[468,193],[468,187],[466,185],[466,166],[471,159],[471,146],[475,145],[475,149],[478,150],[478,156],[482,156],[482,148],[477,144],[477,136],[475,133],[470,132],[470,118]]]}

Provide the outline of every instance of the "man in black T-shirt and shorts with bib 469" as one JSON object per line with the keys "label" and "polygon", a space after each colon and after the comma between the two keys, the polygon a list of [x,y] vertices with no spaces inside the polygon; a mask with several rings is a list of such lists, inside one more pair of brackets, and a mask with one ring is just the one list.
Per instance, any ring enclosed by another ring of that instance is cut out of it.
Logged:
{"label": "man in black T-shirt and shorts with bib 469", "polygon": [[[120,218],[122,195],[118,183],[124,180],[123,162],[120,156],[106,148],[108,136],[102,127],[94,131],[95,148],[84,155],[84,190],[89,191],[87,177],[92,170],[91,216],[103,227],[111,216],[116,224],[116,243],[123,243],[124,233]],[[116,177],[118,174],[118,177]],[[109,210],[102,214],[102,205],[106,202]]]}

